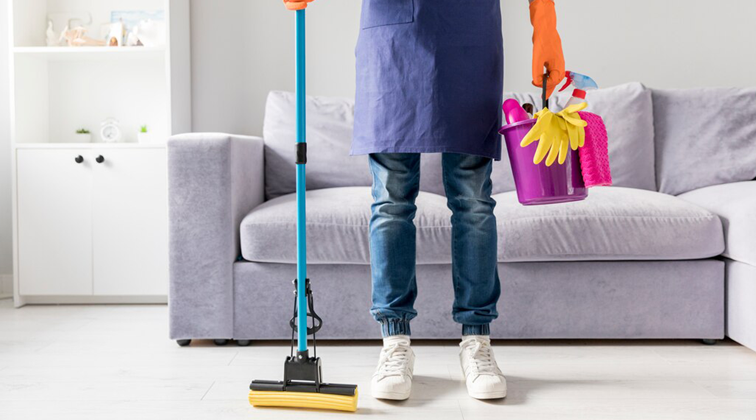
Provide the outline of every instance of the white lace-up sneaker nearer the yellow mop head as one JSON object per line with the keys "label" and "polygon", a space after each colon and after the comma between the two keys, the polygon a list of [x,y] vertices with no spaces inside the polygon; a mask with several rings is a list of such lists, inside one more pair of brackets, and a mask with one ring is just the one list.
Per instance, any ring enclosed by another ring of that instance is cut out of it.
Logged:
{"label": "white lace-up sneaker nearer the yellow mop head", "polygon": [[383,400],[407,400],[412,391],[414,366],[415,354],[410,347],[408,335],[383,338],[378,368],[370,382],[373,397]]}

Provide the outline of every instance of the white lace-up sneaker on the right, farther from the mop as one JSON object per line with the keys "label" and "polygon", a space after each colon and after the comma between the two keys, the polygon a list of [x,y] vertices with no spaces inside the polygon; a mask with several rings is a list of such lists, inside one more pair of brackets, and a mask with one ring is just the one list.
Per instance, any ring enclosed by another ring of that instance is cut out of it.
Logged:
{"label": "white lace-up sneaker on the right, farther from the mop", "polygon": [[507,397],[507,379],[496,364],[488,335],[463,337],[460,364],[470,397],[479,400]]}

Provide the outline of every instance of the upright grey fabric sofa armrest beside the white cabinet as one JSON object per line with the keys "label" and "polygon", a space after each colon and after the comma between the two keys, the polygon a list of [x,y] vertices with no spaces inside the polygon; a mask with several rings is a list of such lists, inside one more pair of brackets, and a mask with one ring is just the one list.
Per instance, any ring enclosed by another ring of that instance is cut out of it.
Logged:
{"label": "upright grey fabric sofa armrest beside the white cabinet", "polygon": [[265,199],[262,138],[171,137],[168,186],[170,336],[233,338],[239,226]]}

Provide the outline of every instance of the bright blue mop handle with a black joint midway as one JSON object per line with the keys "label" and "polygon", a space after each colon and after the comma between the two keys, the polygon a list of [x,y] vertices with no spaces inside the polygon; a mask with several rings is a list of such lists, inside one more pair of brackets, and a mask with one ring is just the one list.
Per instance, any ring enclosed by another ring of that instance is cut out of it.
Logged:
{"label": "bright blue mop handle with a black joint midway", "polygon": [[[296,11],[296,142],[307,141],[305,108],[305,11]],[[305,237],[305,164],[296,165],[296,313],[297,347],[307,350],[307,239]]]}

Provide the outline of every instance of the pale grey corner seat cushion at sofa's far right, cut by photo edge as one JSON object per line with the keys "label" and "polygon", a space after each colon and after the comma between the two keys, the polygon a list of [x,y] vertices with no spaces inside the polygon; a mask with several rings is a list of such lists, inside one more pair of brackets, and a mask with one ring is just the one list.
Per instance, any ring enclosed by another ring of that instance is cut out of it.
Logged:
{"label": "pale grey corner seat cushion at sofa's far right, cut by photo edge", "polygon": [[713,185],[679,197],[722,219],[724,256],[756,266],[756,181]]}

